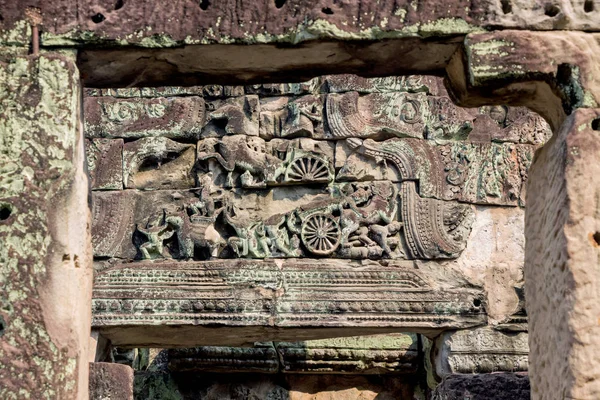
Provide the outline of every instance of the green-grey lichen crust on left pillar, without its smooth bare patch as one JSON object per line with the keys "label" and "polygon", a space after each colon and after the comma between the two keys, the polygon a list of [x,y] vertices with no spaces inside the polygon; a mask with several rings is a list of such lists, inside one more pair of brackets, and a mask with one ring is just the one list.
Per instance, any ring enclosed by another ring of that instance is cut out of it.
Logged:
{"label": "green-grey lichen crust on left pillar, without its smooth bare patch", "polygon": [[0,67],[0,203],[10,208],[0,223],[0,314],[2,340],[12,346],[0,347],[2,399],[55,399],[77,384],[77,362],[50,337],[39,293],[53,240],[50,208],[74,169],[76,71],[52,55]]}

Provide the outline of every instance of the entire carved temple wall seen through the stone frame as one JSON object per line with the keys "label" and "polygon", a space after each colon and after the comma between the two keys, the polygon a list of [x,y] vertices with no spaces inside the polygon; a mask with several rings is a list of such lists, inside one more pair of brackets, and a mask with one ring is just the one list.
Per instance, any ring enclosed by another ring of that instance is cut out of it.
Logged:
{"label": "entire carved temple wall seen through the stone frame", "polygon": [[443,380],[441,399],[456,374],[527,371],[536,114],[353,75],[87,89],[84,111],[93,329],[180,348],[139,398],[422,398]]}

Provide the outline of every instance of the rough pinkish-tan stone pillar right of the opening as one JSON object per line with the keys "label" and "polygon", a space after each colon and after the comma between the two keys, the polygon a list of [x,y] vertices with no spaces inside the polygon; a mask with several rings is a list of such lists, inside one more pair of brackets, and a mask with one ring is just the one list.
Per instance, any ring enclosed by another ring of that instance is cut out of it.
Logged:
{"label": "rough pinkish-tan stone pillar right of the opening", "polygon": [[533,399],[600,398],[600,109],[537,154],[525,221]]}

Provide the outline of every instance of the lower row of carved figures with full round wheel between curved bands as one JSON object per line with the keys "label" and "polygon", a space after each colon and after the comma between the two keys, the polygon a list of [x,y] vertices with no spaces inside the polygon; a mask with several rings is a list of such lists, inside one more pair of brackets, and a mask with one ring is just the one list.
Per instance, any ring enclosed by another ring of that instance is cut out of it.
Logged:
{"label": "lower row of carved figures with full round wheel between curved bands", "polygon": [[421,198],[414,182],[248,192],[204,178],[189,191],[95,192],[96,256],[453,258],[472,221],[470,206]]}

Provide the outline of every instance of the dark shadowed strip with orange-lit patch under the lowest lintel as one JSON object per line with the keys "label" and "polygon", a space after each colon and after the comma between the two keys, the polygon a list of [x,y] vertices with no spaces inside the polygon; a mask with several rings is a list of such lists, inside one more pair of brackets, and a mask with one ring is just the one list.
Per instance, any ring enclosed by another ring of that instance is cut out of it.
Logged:
{"label": "dark shadowed strip with orange-lit patch under the lowest lintel", "polygon": [[422,398],[415,378],[140,372],[136,400],[397,400]]}

